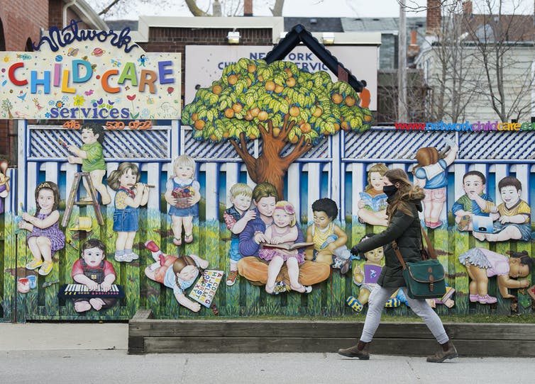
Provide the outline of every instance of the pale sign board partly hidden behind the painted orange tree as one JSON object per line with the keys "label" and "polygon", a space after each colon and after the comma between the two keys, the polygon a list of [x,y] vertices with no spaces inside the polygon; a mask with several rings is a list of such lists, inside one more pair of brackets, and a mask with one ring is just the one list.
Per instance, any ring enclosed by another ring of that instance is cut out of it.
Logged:
{"label": "pale sign board partly hidden behind the painted orange tree", "polygon": [[[272,50],[267,45],[187,45],[184,103],[193,101],[197,89],[206,88],[221,77],[221,72],[228,64],[237,62],[241,57],[263,60]],[[370,91],[370,110],[377,111],[377,55],[375,45],[351,45],[326,47],[344,67],[349,69],[358,80],[365,80]],[[309,72],[325,71],[336,81],[333,74],[319,58],[305,45],[294,47],[285,61],[294,62],[301,69]]]}

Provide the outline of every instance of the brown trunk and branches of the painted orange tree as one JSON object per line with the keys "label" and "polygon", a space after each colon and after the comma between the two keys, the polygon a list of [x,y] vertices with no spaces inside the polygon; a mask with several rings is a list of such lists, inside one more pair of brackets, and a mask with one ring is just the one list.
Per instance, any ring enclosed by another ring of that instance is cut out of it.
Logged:
{"label": "brown trunk and branches of the painted orange tree", "polygon": [[246,168],[250,179],[255,183],[271,183],[277,188],[279,200],[284,199],[284,178],[290,164],[299,159],[302,154],[306,153],[311,147],[309,140],[302,136],[295,145],[292,152],[285,157],[280,157],[280,152],[284,149],[286,138],[289,131],[292,130],[294,122],[288,123],[289,115],[285,115],[284,125],[277,137],[273,136],[273,126],[271,120],[267,120],[267,129],[264,125],[259,124],[258,129],[262,136],[262,154],[255,159],[248,151],[246,146],[245,134],[241,134],[240,144],[236,140],[230,140],[238,155],[246,163]]}

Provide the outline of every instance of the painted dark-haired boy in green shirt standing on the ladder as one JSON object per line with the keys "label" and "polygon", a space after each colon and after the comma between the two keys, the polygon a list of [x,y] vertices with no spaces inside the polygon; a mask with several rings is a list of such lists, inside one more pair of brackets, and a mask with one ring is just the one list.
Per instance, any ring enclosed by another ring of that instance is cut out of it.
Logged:
{"label": "painted dark-haired boy in green shirt standing on the ladder", "polygon": [[[107,205],[111,201],[106,186],[102,179],[106,174],[106,163],[102,153],[102,142],[104,142],[104,127],[97,123],[85,123],[82,125],[82,147],[70,145],[67,149],[75,156],[68,156],[70,164],[82,164],[82,171],[89,172],[91,181],[96,191],[100,193],[102,204]],[[89,193],[89,186],[85,179],[84,187]],[[87,196],[84,201],[91,201],[91,196]]]}

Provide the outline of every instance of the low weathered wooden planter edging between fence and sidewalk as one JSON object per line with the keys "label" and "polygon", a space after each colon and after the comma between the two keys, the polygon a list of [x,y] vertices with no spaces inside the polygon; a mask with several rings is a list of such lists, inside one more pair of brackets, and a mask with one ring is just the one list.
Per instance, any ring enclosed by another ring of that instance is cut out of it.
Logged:
{"label": "low weathered wooden planter edging between fence and sidewalk", "polygon": [[[444,324],[461,356],[535,356],[535,324]],[[363,322],[308,320],[154,320],[138,310],[128,323],[128,353],[326,352],[356,343]],[[433,354],[421,322],[385,322],[373,354]]]}

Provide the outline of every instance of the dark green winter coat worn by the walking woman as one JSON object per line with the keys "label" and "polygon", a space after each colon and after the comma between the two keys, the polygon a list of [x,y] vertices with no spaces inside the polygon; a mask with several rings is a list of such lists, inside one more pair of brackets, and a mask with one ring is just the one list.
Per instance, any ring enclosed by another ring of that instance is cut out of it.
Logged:
{"label": "dark green winter coat worn by the walking woman", "polygon": [[368,252],[372,249],[383,247],[385,252],[385,266],[382,268],[377,284],[382,287],[397,288],[405,286],[402,265],[392,248],[392,241],[397,242],[399,252],[403,260],[421,260],[421,232],[418,212],[421,212],[421,201],[406,202],[409,205],[412,216],[397,210],[390,219],[387,229],[360,242],[356,245],[360,252]]}

